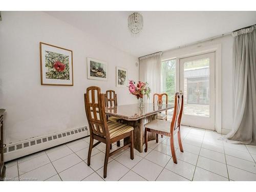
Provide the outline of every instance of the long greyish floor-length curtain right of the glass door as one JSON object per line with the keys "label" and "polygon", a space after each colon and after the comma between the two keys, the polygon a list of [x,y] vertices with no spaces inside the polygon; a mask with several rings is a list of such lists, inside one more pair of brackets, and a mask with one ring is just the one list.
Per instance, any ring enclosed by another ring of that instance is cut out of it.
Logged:
{"label": "long greyish floor-length curtain right of the glass door", "polygon": [[233,32],[234,121],[226,139],[256,144],[256,26]]}

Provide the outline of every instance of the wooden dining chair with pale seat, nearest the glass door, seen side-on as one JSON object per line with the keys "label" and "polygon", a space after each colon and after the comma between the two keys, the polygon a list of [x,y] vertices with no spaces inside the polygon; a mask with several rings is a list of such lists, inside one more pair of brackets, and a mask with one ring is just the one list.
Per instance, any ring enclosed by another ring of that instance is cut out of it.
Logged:
{"label": "wooden dining chair with pale seat, nearest the glass door, seen side-on", "polygon": [[172,152],[174,163],[177,163],[175,146],[174,146],[174,135],[178,133],[178,142],[180,146],[180,151],[183,152],[181,135],[180,135],[180,121],[182,117],[182,112],[183,112],[183,94],[176,93],[172,121],[169,122],[169,121],[163,121],[160,119],[155,119],[145,124],[145,133],[144,133],[144,139],[145,139],[144,151],[145,152],[147,152],[147,132],[165,135],[167,137],[170,137],[170,150]]}

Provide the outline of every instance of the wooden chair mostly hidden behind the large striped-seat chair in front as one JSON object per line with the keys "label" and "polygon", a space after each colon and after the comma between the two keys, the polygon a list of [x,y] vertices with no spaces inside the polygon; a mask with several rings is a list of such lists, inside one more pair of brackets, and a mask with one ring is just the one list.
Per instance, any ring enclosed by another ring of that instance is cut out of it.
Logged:
{"label": "wooden chair mostly hidden behind the large striped-seat chair in front", "polygon": [[[106,90],[106,93],[104,94],[105,98],[105,106],[116,106],[117,105],[117,94],[114,90]],[[108,121],[112,122],[120,122],[122,119],[115,117],[115,116],[107,116]],[[117,146],[120,146],[120,141],[116,142]],[[110,146],[112,148],[112,145]]]}

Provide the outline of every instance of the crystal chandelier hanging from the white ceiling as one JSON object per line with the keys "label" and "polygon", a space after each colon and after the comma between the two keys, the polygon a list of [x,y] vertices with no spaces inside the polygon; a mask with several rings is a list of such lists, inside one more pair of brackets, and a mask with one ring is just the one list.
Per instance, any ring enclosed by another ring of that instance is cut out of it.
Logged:
{"label": "crystal chandelier hanging from the white ceiling", "polygon": [[143,16],[137,12],[128,17],[128,27],[132,34],[139,34],[143,28]]}

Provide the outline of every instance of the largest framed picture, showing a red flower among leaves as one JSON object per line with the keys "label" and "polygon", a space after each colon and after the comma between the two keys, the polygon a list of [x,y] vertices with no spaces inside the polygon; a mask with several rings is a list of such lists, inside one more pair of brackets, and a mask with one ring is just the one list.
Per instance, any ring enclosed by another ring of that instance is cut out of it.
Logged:
{"label": "largest framed picture, showing a red flower among leaves", "polygon": [[73,86],[73,52],[40,42],[41,84]]}

